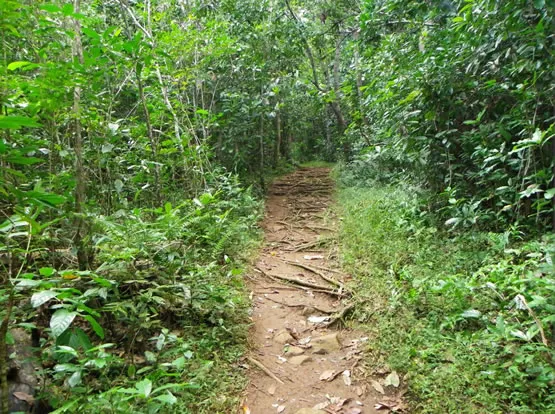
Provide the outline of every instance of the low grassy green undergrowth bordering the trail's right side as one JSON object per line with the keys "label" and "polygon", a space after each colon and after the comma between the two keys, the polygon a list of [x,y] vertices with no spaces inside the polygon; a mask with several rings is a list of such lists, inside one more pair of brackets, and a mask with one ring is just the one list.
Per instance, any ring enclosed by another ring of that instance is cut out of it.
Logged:
{"label": "low grassy green undergrowth bordering the trail's right side", "polygon": [[374,366],[419,413],[555,412],[555,237],[446,231],[416,188],[343,188],[341,259]]}

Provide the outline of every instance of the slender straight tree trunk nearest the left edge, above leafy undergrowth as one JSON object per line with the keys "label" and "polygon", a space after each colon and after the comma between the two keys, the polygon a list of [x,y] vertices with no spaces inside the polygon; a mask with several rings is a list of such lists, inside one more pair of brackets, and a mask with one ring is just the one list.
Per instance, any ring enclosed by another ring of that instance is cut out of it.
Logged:
{"label": "slender straight tree trunk nearest the left edge, above leafy undergrowth", "polygon": [[[81,1],[74,0],[73,10],[80,13]],[[81,43],[81,24],[73,19],[75,37],[73,38],[73,58],[83,64],[83,45]],[[73,151],[75,152],[75,246],[77,247],[77,261],[79,269],[89,267],[89,254],[85,245],[86,223],[83,217],[83,206],[86,201],[86,177],[83,161],[83,133],[81,125],[81,87],[73,89]]]}

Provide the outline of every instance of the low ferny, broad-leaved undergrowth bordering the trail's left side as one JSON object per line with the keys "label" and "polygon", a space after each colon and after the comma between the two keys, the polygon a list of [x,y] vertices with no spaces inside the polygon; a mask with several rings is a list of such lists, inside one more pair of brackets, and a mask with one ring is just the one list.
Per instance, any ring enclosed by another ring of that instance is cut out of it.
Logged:
{"label": "low ferny, broad-leaved undergrowth bordering the trail's left side", "polygon": [[54,412],[232,412],[260,207],[223,175],[179,205],[95,217],[94,271],[47,266],[37,248],[35,272],[14,280],[15,323],[41,335]]}

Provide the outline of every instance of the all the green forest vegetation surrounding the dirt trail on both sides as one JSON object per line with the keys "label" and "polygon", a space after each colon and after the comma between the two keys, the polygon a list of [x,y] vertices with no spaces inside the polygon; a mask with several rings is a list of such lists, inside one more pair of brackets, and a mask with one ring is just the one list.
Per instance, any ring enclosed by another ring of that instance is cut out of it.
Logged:
{"label": "all the green forest vegetation surrounding the dirt trail on both sides", "polygon": [[324,159],[365,188],[341,201],[345,263],[395,310],[376,354],[414,406],[549,412],[554,10],[0,2],[2,394],[25,330],[59,412],[229,412],[255,195]]}

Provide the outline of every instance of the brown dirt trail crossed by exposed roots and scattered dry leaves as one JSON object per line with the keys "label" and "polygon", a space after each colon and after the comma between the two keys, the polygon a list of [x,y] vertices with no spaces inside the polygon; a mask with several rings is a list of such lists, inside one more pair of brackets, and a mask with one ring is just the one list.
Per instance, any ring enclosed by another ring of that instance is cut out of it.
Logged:
{"label": "brown dirt trail crossed by exposed roots and scattered dry leaves", "polygon": [[377,394],[359,366],[367,338],[341,328],[349,295],[329,243],[336,222],[329,173],[300,169],[271,188],[250,285],[254,351],[245,412],[377,412]]}

